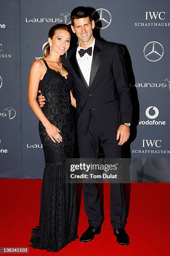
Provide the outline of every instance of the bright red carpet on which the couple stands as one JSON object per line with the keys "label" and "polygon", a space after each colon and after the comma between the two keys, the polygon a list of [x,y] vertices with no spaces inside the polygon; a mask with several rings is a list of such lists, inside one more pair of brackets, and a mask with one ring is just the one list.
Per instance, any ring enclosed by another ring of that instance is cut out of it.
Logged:
{"label": "bright red carpet on which the couple stands", "polygon": [[[0,179],[0,247],[29,247],[29,255],[54,255],[54,252],[28,246],[31,229],[39,221],[41,183],[40,179]],[[77,239],[57,254],[170,255],[170,184],[131,184],[126,225],[130,236],[129,246],[120,246],[113,236],[110,225],[110,184],[104,184],[103,187],[105,220],[101,234],[89,243],[80,243]],[[80,186],[78,193],[80,195]],[[86,228],[87,217],[81,200],[78,235]]]}

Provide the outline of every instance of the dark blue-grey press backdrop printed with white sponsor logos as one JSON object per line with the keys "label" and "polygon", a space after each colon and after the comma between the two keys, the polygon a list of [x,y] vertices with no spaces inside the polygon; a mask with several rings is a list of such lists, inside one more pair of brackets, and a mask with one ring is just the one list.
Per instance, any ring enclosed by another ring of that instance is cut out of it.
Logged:
{"label": "dark blue-grey press backdrop printed with white sponsor logos", "polygon": [[156,158],[159,172],[163,165],[168,171],[170,1],[1,0],[1,178],[42,178],[45,162],[38,120],[27,100],[30,66],[42,57],[50,27],[70,24],[71,10],[80,5],[94,12],[95,37],[122,46],[133,98],[131,157]]}

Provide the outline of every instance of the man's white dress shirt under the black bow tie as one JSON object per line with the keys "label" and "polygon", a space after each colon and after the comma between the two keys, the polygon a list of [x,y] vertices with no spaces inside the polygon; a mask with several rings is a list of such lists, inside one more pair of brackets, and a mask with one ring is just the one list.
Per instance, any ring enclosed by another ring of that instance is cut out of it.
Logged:
{"label": "man's white dress shirt under the black bow tie", "polygon": [[[84,56],[80,57],[80,54],[78,53],[78,51],[80,51],[80,49],[86,50],[87,48],[89,48],[91,46],[92,46],[92,55],[90,56],[86,52]],[[89,86],[89,82],[90,82],[90,72],[91,72],[91,66],[92,66],[92,56],[93,56],[94,46],[95,46],[95,38],[93,39],[92,44],[90,44],[90,46],[88,46],[86,49],[82,48],[79,43],[78,47],[77,47],[77,52],[76,52],[76,59],[77,59],[78,65],[81,69],[81,72],[82,72],[88,86]]]}

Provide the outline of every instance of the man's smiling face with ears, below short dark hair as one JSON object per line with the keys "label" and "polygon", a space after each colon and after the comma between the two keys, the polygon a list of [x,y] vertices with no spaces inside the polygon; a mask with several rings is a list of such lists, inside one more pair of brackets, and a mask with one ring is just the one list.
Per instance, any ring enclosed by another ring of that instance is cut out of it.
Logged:
{"label": "man's smiling face with ears, below short dark hair", "polygon": [[92,29],[95,27],[95,22],[92,20],[90,22],[89,17],[74,19],[74,26],[71,26],[73,33],[76,33],[76,36],[79,42],[86,43],[90,41],[92,37]]}

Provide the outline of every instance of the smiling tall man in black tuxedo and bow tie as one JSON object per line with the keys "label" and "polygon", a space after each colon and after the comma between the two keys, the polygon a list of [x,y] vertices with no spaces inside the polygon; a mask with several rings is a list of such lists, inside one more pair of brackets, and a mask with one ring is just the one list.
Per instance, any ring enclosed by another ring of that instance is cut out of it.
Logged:
{"label": "smiling tall man in black tuxedo and bow tie", "polygon": [[[80,158],[97,158],[100,145],[105,158],[121,158],[122,145],[130,136],[132,103],[120,46],[93,37],[95,22],[85,7],[72,10],[71,22],[79,44],[62,59],[74,77]],[[97,184],[84,183],[83,196],[89,227],[80,241],[88,242],[100,233],[102,224]],[[125,216],[125,185],[111,183],[111,224],[121,245],[129,244]]]}

